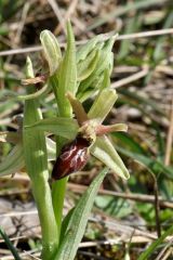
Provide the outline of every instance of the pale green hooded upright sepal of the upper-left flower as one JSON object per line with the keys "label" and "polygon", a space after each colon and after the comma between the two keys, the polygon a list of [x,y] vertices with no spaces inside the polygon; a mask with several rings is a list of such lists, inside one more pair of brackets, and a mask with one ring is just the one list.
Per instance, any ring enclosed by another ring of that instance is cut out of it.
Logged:
{"label": "pale green hooded upright sepal of the upper-left flower", "polygon": [[43,30],[40,34],[41,44],[45,60],[49,64],[51,76],[57,70],[62,61],[62,53],[55,36],[50,30]]}

